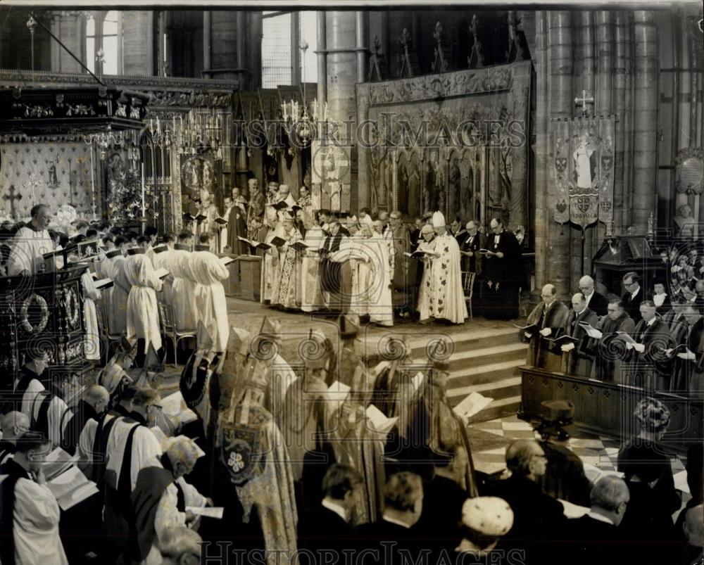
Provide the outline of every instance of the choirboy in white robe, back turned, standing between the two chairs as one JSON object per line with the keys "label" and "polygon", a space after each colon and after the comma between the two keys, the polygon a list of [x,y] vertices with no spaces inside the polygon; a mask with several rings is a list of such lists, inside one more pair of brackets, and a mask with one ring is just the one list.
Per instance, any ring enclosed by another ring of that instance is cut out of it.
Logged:
{"label": "choirboy in white robe, back turned, standing between the two chairs", "polygon": [[146,256],[149,244],[144,236],[137,238],[137,247],[130,249],[125,261],[125,274],[131,286],[127,298],[127,339],[137,340],[137,365],[149,367],[161,364],[161,328],[156,293],[161,280]]}

